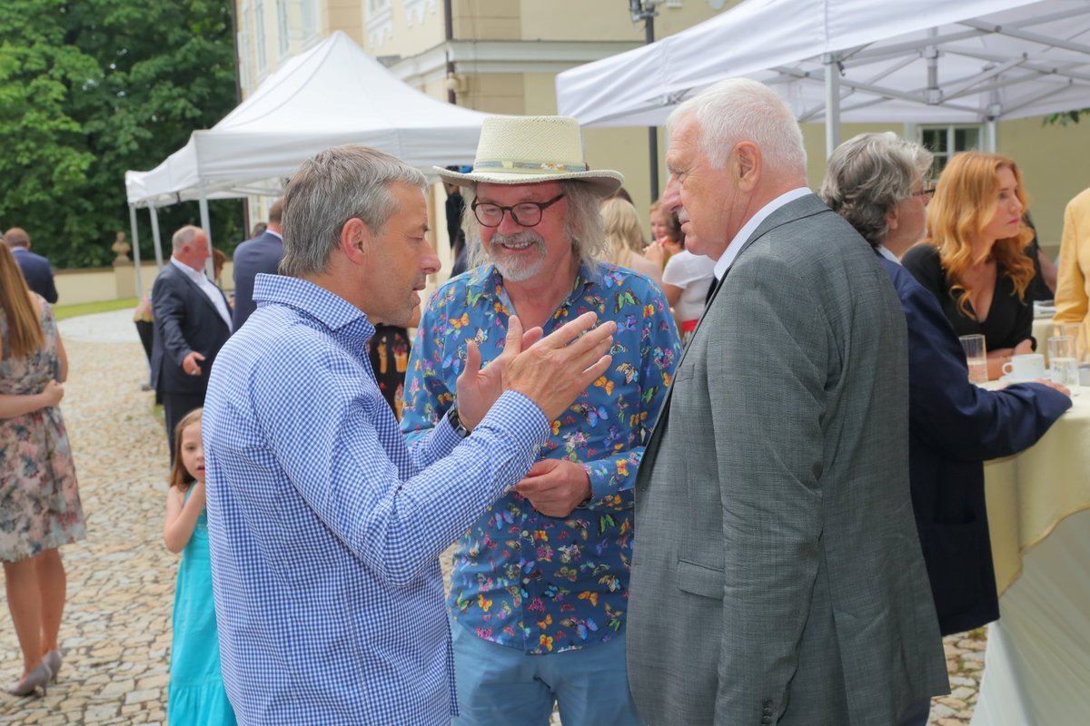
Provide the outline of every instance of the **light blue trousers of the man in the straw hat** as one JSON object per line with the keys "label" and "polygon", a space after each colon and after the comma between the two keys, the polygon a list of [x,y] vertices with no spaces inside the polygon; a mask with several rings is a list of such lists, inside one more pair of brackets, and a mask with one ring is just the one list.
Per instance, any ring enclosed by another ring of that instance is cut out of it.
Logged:
{"label": "light blue trousers of the man in the straw hat", "polygon": [[642,726],[628,690],[625,633],[562,653],[528,654],[450,623],[461,715],[452,726]]}

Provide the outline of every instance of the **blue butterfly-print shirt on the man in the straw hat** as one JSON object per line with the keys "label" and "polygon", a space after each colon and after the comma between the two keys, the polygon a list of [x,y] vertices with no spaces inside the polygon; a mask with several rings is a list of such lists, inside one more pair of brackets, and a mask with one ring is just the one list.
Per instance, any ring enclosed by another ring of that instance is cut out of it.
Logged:
{"label": "blue butterfly-print shirt on the man in the straw hat", "polygon": [[[552,422],[542,457],[580,463],[591,500],[567,517],[541,514],[509,492],[455,547],[447,604],[458,623],[496,643],[549,653],[621,632],[632,553],[632,488],[643,445],[680,355],[662,291],[613,264],[582,267],[545,334],[594,310],[615,320],[609,370]],[[492,266],[444,284],[428,300],[405,379],[401,428],[422,435],[453,404],[465,344],[485,362],[504,349],[514,309]]]}

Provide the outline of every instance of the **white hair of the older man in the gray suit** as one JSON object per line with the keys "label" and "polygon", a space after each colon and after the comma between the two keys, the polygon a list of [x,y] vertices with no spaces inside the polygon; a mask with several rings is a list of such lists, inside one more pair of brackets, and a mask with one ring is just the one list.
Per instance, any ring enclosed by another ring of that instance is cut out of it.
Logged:
{"label": "white hair of the older man in the gray suit", "polygon": [[722,169],[739,143],[752,141],[767,169],[806,176],[807,150],[795,113],[763,83],[727,78],[708,86],[674,109],[666,120],[667,138],[690,115],[700,126],[700,151],[713,169]]}

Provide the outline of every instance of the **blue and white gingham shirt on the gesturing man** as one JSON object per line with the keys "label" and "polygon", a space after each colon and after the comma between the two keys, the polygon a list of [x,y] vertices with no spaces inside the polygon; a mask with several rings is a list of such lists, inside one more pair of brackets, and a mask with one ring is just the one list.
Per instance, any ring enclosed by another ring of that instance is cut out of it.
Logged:
{"label": "blue and white gingham shirt on the gesturing man", "polygon": [[[405,445],[367,360],[374,327],[259,274],[204,414],[223,681],[241,724],[426,724],[456,713],[438,554],[548,434],[504,393],[462,440]],[[427,468],[425,468],[427,467]]]}

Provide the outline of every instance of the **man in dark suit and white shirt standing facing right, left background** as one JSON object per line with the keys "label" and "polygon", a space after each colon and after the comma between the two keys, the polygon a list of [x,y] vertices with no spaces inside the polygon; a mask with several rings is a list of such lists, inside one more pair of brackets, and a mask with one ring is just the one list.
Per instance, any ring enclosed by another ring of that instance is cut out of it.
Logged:
{"label": "man in dark suit and white shirt standing facing right, left background", "polygon": [[152,287],[152,385],[162,397],[173,462],[174,427],[204,405],[216,354],[231,335],[231,312],[223,293],[204,273],[211,257],[204,230],[183,226],[171,243],[170,262]]}

